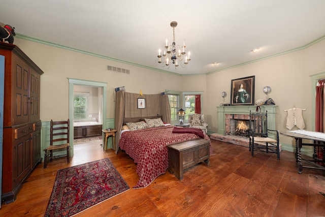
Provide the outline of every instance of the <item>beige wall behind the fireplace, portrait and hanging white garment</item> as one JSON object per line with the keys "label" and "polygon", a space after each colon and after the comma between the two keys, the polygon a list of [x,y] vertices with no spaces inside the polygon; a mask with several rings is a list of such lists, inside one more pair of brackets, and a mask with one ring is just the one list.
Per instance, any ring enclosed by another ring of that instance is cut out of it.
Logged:
{"label": "beige wall behind the fireplace, portrait and hanging white garment", "polygon": [[[231,80],[255,75],[255,100],[264,99],[264,86],[270,86],[272,92],[269,97],[277,107],[277,130],[287,130],[285,109],[294,105],[307,109],[303,112],[306,130],[312,130],[312,103],[310,75],[325,73],[325,41],[320,41],[306,49],[272,58],[256,61],[247,65],[220,71],[207,75],[207,114],[209,130],[217,131],[217,106],[220,103],[230,103]],[[325,74],[324,74],[325,77]],[[222,99],[221,92],[227,96]],[[293,130],[298,130],[294,128]],[[280,135],[280,142],[294,144],[294,139]]]}

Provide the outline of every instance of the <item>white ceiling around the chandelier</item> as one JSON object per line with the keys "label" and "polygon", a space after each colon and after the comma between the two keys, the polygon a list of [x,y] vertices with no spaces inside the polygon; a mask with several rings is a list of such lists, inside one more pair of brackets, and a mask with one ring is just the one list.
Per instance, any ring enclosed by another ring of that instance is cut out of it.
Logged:
{"label": "white ceiling around the chandelier", "polygon": [[[0,22],[16,34],[190,75],[308,45],[325,36],[324,10],[324,0],[2,0]],[[171,21],[176,44],[185,39],[191,52],[186,68],[157,63],[158,48],[172,41]]]}

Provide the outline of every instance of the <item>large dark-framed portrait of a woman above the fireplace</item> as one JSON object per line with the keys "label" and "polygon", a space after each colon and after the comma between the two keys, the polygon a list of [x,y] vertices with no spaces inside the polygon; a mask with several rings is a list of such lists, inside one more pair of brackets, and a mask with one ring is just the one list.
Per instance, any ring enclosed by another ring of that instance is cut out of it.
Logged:
{"label": "large dark-framed portrait of a woman above the fireplace", "polygon": [[231,86],[232,105],[254,105],[255,76],[234,79]]}

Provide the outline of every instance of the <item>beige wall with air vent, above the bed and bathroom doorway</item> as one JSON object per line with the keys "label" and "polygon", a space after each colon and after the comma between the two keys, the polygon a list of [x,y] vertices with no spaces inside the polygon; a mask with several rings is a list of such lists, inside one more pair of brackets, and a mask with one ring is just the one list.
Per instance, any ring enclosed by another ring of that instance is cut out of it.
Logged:
{"label": "beige wall with air vent, above the bed and bathroom doorway", "polygon": [[[105,58],[61,49],[45,44],[15,39],[43,71],[41,77],[41,120],[69,117],[68,78],[107,82],[107,118],[114,118],[114,88],[125,86],[127,92],[158,94],[165,89],[181,91],[181,76],[157,72]],[[130,70],[124,75],[106,70],[106,66]]]}

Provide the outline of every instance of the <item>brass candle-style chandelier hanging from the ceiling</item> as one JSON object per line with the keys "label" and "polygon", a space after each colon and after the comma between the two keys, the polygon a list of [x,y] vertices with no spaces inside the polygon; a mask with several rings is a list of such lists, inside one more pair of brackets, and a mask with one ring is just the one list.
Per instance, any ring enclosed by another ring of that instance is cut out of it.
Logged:
{"label": "brass candle-style chandelier hanging from the ceiling", "polygon": [[163,53],[165,60],[161,61],[161,49],[159,49],[158,56],[157,56],[159,58],[158,63],[161,65],[161,67],[167,66],[168,69],[169,69],[169,65],[171,63],[173,63],[175,65],[176,69],[178,66],[185,68],[186,65],[188,64],[189,60],[191,60],[189,58],[190,52],[188,52],[188,54],[186,55],[185,40],[184,40],[182,47],[179,45],[176,45],[176,43],[175,43],[175,28],[177,26],[177,22],[176,21],[171,22],[171,26],[173,28],[173,43],[168,44],[168,40],[166,39],[166,45],[165,45],[165,49],[164,49],[164,53]]}

